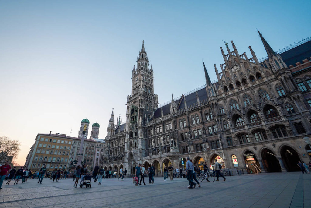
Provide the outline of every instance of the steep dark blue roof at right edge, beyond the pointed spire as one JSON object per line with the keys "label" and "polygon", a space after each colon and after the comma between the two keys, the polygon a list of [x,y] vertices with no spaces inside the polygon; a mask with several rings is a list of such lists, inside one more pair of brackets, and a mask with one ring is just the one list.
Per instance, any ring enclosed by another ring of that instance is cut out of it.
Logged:
{"label": "steep dark blue roof at right edge, beyond the pointed spire", "polygon": [[310,59],[311,57],[311,41],[308,41],[300,46],[296,46],[288,51],[280,54],[283,61],[287,66],[296,66],[297,62],[301,62],[304,59]]}

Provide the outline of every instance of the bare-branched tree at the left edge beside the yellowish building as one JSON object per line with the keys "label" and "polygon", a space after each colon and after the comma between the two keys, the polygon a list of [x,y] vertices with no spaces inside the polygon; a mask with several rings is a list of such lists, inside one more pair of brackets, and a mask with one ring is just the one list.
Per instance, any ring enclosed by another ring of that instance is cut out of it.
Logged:
{"label": "bare-branched tree at the left edge beside the yellowish building", "polygon": [[7,156],[17,157],[18,152],[21,150],[19,146],[21,143],[17,140],[12,140],[6,136],[0,136],[0,164],[7,160]]}

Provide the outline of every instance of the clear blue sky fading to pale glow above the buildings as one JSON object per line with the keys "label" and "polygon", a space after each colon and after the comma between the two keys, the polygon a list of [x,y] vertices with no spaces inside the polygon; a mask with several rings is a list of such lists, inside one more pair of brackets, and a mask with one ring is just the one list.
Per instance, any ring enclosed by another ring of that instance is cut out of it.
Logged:
{"label": "clear blue sky fading to pale glow above the buildings", "polygon": [[[100,138],[126,98],[142,40],[159,102],[205,84],[224,62],[222,39],[266,56],[311,34],[311,1],[0,1],[0,136],[22,141],[24,164],[37,133],[77,136],[87,117]],[[231,45],[229,45],[230,48]],[[219,68],[220,70],[220,68]],[[91,133],[91,131],[89,131]]]}

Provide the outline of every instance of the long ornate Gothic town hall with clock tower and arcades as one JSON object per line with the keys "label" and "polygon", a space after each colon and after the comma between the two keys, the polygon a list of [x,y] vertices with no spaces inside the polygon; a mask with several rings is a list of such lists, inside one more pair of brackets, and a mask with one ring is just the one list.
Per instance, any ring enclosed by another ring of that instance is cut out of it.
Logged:
{"label": "long ornate Gothic town hall with clock tower and arcades", "polygon": [[311,160],[311,41],[276,53],[259,37],[264,60],[251,46],[247,57],[233,41],[233,50],[226,43],[220,47],[225,63],[214,65],[216,82],[203,62],[206,86],[177,100],[172,95],[161,107],[143,42],[126,123],[115,122],[113,112],[109,120],[104,168],[131,173],[137,163],[152,163],[160,176],[164,166],[181,168],[190,157],[201,169],[217,158],[224,168],[243,173],[299,171],[298,161]]}

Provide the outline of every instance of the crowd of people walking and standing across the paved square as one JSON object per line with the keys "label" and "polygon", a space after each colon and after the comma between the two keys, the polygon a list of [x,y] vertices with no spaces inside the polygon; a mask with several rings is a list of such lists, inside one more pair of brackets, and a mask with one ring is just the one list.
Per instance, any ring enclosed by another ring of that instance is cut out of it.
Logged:
{"label": "crowd of people walking and standing across the paved square", "polygon": [[[299,161],[297,164],[302,173],[310,173],[311,172],[311,161],[309,164],[304,163],[303,161]],[[147,169],[146,169],[147,168]],[[150,164],[148,167],[144,167],[143,164],[138,164],[137,167],[135,168],[135,174],[133,177],[133,183],[135,183],[136,186],[141,186],[142,182],[143,185],[146,185],[145,183],[145,175],[148,175],[148,180],[149,184],[154,183],[154,176],[156,173],[156,168],[154,167],[153,164]],[[209,171],[209,168],[206,164],[204,163],[203,166],[204,172]],[[216,181],[219,181],[219,177],[222,177],[224,181],[226,178],[220,171],[222,169],[222,166],[217,162],[217,159],[215,159],[215,165],[213,168],[213,173],[217,177]],[[195,166],[192,162],[192,160],[187,157],[187,162],[186,162],[186,167],[184,170],[182,168],[173,168],[172,165],[169,167],[164,167],[163,169],[163,175],[164,175],[164,181],[167,181],[169,178],[171,181],[174,181],[174,178],[182,178],[182,177],[187,177],[187,180],[189,182],[188,188],[195,188],[201,187],[199,181],[197,181],[196,174],[202,172],[203,170],[200,170]],[[30,169],[24,170],[23,167],[20,167],[19,169],[16,170],[16,167],[13,167],[11,169],[11,166],[8,165],[8,161],[5,162],[4,165],[0,166],[0,190],[2,189],[2,183],[3,181],[7,181],[6,184],[9,185],[10,182],[14,181],[14,184],[18,184],[19,181],[21,183],[27,182],[29,178],[32,179],[38,179],[38,183],[42,183],[43,178],[50,178],[52,182],[55,181],[59,182],[59,179],[67,179],[70,175],[69,171],[63,171],[61,169],[55,168],[52,172],[48,172],[46,166],[42,167],[38,172],[32,172]],[[77,188],[79,180],[80,184],[83,185],[83,179],[85,176],[91,176],[94,179],[94,182],[98,180],[98,185],[101,185],[102,179],[109,179],[109,178],[117,178],[118,180],[121,178],[123,181],[124,178],[127,176],[127,170],[126,168],[123,170],[123,168],[120,168],[119,172],[116,170],[104,170],[103,166],[98,166],[96,165],[94,168],[93,172],[89,172],[86,165],[83,165],[81,167],[78,165],[73,173],[73,180],[74,182],[74,188]],[[208,178],[206,178],[208,181]],[[11,183],[12,183],[11,182]]]}

